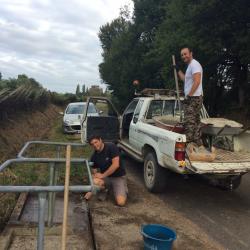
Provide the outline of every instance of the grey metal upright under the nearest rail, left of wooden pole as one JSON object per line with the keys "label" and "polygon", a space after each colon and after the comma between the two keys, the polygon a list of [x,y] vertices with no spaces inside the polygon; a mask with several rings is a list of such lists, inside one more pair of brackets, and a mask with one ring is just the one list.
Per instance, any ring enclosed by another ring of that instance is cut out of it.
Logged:
{"label": "grey metal upright under the nearest rail, left of wooden pole", "polygon": [[38,195],[39,211],[38,211],[38,238],[37,249],[44,249],[44,217],[45,217],[45,205],[46,205],[47,193],[40,192]]}

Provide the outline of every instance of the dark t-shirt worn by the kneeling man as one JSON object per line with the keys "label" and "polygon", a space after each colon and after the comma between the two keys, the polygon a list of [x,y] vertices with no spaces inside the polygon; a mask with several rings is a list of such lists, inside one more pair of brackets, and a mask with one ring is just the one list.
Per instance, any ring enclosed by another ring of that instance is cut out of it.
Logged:
{"label": "dark t-shirt worn by the kneeling man", "polygon": [[118,147],[113,143],[104,143],[104,148],[101,152],[94,152],[90,161],[94,162],[93,168],[100,168],[101,173],[104,173],[111,165],[112,159],[119,156],[119,168],[110,175],[110,177],[120,177],[126,174],[122,164]]}

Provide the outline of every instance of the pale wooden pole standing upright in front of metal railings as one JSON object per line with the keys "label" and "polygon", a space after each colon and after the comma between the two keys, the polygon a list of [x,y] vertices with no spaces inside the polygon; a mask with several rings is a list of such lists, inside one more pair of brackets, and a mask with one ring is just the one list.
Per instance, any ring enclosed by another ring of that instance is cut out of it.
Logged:
{"label": "pale wooden pole standing upright in front of metal railings", "polygon": [[68,222],[68,204],[69,204],[69,179],[70,179],[70,156],[71,146],[66,148],[66,170],[64,184],[64,208],[63,208],[63,227],[62,227],[62,250],[66,250],[67,222]]}

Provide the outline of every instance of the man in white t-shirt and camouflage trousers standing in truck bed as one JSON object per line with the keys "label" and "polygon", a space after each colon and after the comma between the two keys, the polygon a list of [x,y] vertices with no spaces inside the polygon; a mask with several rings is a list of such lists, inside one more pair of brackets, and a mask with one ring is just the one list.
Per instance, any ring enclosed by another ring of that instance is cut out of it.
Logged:
{"label": "man in white t-shirt and camouflage trousers standing in truck bed", "polygon": [[181,58],[188,65],[184,73],[177,69],[179,78],[184,81],[184,127],[187,142],[202,145],[200,138],[200,110],[203,102],[202,75],[200,63],[193,58],[189,47],[181,49]]}

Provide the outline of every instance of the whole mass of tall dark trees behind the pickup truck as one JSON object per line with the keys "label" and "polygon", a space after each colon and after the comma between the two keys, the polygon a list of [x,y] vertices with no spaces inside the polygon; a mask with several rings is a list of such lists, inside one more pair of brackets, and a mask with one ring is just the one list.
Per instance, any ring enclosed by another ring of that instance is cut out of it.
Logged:
{"label": "whole mass of tall dark trees behind the pickup truck", "polygon": [[[204,70],[205,105],[211,115],[244,107],[250,113],[248,0],[133,0],[100,27],[100,76],[122,109],[139,89],[174,88],[172,55],[189,46]],[[182,85],[180,86],[182,87]]]}

